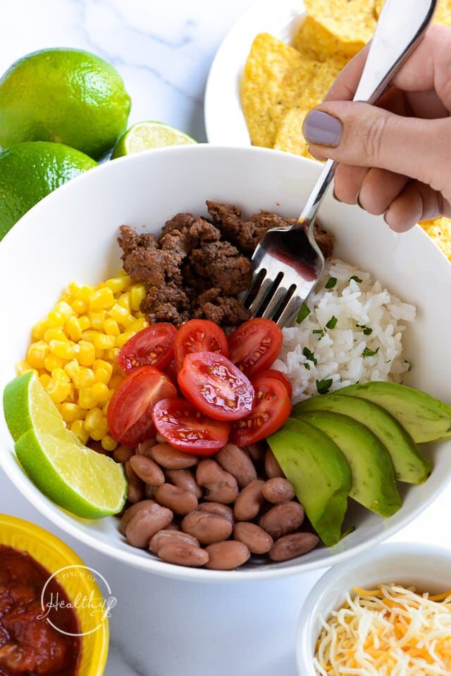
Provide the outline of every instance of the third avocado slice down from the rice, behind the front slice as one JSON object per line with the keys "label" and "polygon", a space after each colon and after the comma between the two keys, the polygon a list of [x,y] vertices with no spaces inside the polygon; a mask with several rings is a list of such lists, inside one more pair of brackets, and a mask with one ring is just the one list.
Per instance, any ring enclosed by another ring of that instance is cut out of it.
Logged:
{"label": "third avocado slice down from the rice, behind the front slice", "polygon": [[330,411],[299,413],[303,420],[335,441],[352,472],[350,497],[381,517],[391,517],[402,505],[390,453],[366,425]]}

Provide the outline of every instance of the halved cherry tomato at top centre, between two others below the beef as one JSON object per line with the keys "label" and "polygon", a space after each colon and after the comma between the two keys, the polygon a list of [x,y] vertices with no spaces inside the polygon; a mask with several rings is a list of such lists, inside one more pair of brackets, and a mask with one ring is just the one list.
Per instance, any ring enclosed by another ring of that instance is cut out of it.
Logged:
{"label": "halved cherry tomato at top centre, between two others below the beef", "polygon": [[178,330],[174,343],[175,366],[183,367],[183,359],[192,352],[219,352],[228,357],[226,333],[208,319],[190,319]]}

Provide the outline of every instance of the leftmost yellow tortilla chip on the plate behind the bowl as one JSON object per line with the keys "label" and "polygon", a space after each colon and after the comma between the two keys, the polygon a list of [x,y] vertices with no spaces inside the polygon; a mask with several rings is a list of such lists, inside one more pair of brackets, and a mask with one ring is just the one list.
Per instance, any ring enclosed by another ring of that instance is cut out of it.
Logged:
{"label": "leftmost yellow tortilla chip on the plate behind the bowl", "polygon": [[304,68],[304,59],[297,49],[268,33],[257,35],[247,57],[241,85],[242,107],[253,145],[273,147],[278,125],[292,95],[282,89],[283,80],[292,68]]}

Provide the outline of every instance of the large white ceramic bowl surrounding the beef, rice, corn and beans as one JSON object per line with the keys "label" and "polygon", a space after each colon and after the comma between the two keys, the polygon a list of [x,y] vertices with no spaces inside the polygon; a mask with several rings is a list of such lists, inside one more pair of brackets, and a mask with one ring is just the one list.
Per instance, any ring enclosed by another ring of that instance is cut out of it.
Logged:
{"label": "large white ceramic bowl surrounding the beef, rice, corn and beans", "polygon": [[[178,211],[204,214],[205,199],[240,204],[247,213],[268,209],[299,214],[321,166],[288,153],[210,145],[154,150],[111,161],[70,181],[26,214],[0,244],[0,391],[24,358],[30,328],[45,317],[72,279],[95,283],[121,267],[118,226],[158,232]],[[321,218],[335,235],[338,257],[371,271],[403,300],[419,308],[405,335],[413,369],[408,382],[449,398],[451,266],[421,228],[393,234],[381,218],[347,207],[329,195]],[[407,524],[451,478],[451,443],[434,445],[435,467],[424,486],[405,488],[404,505],[390,520],[354,505],[356,526],[332,549],[319,547],[285,563],[246,565],[233,572],[176,567],[134,549],[118,534],[114,517],[77,519],[47,500],[18,466],[0,416],[0,457],[18,489],[68,534],[125,563],[169,577],[199,581],[280,577],[338,563],[373,546]]]}

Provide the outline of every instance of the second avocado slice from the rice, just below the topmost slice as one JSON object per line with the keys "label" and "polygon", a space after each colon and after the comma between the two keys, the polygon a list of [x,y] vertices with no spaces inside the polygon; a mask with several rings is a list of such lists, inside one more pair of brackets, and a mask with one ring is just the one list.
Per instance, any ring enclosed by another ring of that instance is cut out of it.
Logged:
{"label": "second avocado slice from the rice, just below the topmost slice", "polygon": [[293,408],[291,416],[296,418],[299,413],[306,411],[341,413],[366,425],[388,449],[399,481],[405,481],[407,484],[423,484],[431,474],[430,462],[421,453],[412,437],[381,406],[359,397],[344,397],[333,393],[299,402]]}

